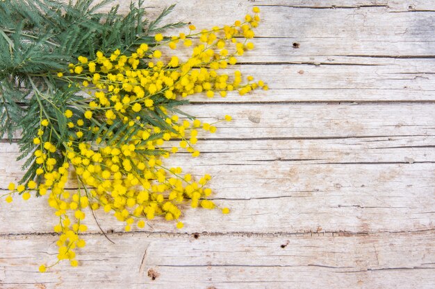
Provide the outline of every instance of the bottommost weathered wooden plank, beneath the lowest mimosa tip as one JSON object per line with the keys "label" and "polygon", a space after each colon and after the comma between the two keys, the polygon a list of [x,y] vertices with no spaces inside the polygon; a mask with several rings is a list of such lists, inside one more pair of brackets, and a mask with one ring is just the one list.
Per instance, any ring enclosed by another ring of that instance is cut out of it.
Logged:
{"label": "bottommost weathered wooden plank, beneath the lowest mimosa tip", "polygon": [[88,235],[45,274],[56,237],[3,236],[0,288],[432,288],[433,231],[343,235]]}

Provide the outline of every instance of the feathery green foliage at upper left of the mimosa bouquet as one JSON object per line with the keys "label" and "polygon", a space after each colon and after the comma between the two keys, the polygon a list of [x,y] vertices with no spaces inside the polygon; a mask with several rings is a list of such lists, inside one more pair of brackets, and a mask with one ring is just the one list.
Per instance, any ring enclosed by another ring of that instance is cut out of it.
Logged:
{"label": "feathery green foliage at upper left of the mimosa bouquet", "polygon": [[[137,6],[131,3],[126,15],[120,14],[119,6],[113,6],[106,13],[99,12],[99,8],[112,2],[0,1],[0,137],[13,141],[14,132],[21,130],[19,159],[25,159],[35,149],[32,140],[40,128],[40,116],[56,119],[51,139],[65,143],[69,136],[67,121],[61,112],[70,103],[85,101],[76,94],[79,89],[74,85],[47,76],[47,71],[65,70],[79,55],[95,58],[96,51],[128,52],[142,43],[153,46],[155,40],[151,34],[184,25],[179,22],[159,26],[174,6],[165,8],[154,21],[149,21],[143,0]],[[180,103],[174,101],[171,107],[177,104]],[[74,107],[69,109],[74,110],[75,115],[83,114]],[[147,117],[154,125],[166,125],[158,114]],[[124,126],[122,122],[110,128],[102,125],[102,137],[110,132],[116,135]],[[116,138],[110,139],[116,141]],[[27,169],[28,174],[22,182],[35,176],[34,160],[35,157],[29,157],[24,164],[23,169]]]}

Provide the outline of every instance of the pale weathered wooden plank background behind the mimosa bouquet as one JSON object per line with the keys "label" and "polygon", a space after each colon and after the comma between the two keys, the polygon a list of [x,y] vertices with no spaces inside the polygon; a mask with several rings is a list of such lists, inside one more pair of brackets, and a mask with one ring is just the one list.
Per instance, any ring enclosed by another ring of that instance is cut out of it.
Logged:
{"label": "pale weathered wooden plank background behind the mimosa bouquet", "polygon": [[[186,111],[234,121],[174,159],[213,175],[232,213],[129,233],[98,213],[115,244],[90,218],[81,266],[40,274],[56,259],[47,200],[1,202],[0,288],[435,288],[434,1],[175,2],[168,20],[198,28],[261,8],[238,68],[270,91],[193,98]],[[16,156],[0,143],[0,193]]]}

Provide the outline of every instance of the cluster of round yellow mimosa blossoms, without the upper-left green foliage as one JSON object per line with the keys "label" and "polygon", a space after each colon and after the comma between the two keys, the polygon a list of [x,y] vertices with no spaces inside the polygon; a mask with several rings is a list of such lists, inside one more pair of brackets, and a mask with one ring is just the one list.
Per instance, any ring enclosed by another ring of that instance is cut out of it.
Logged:
{"label": "cluster of round yellow mimosa blossoms, without the upper-left green foliage", "polygon": [[[113,213],[124,222],[124,230],[131,231],[157,217],[174,221],[181,229],[179,219],[186,204],[217,208],[208,200],[210,175],[195,179],[179,167],[165,165],[165,158],[179,150],[198,157],[194,148],[198,134],[217,130],[216,123],[182,114],[175,106],[192,94],[212,98],[237,91],[243,96],[254,89],[268,89],[252,76],[244,81],[240,71],[232,75],[221,71],[254,48],[250,40],[260,21],[258,12],[254,8],[254,15],[231,26],[196,33],[191,25],[188,35],[157,34],[151,43],[142,43],[130,53],[97,51],[95,59],[80,56],[67,70],[56,71],[55,77],[89,97],[62,112],[67,143],[55,143],[51,138],[54,120],[41,116],[38,137],[33,139],[38,165],[35,180],[10,184],[6,201],[12,202],[13,193],[25,200],[30,198],[29,191],[48,194],[59,219],[54,227],[59,234],[58,261],[67,259],[72,266],[78,265],[76,248],[85,246],[81,233],[88,229],[84,220],[91,210]],[[178,55],[171,53],[177,48],[181,48]],[[231,116],[222,121],[231,121]],[[78,184],[78,189],[67,189],[67,182]],[[221,209],[229,213],[228,208]],[[41,265],[40,271],[49,267]]]}

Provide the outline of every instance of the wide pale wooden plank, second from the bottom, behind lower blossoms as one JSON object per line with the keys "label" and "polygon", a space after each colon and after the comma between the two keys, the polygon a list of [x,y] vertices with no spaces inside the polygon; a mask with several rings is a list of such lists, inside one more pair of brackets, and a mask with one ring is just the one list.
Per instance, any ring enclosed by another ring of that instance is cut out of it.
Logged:
{"label": "wide pale wooden plank, second from the bottom, behind lower blossoms", "polygon": [[[213,168],[213,167],[212,167]],[[215,168],[215,167],[214,167]],[[215,175],[215,202],[231,214],[187,209],[183,231],[415,231],[434,229],[434,164],[361,166],[223,166]],[[225,173],[226,172],[226,173]],[[0,232],[49,232],[56,217],[46,198],[1,202]],[[90,231],[98,232],[87,212]],[[113,216],[97,211],[104,230],[123,231]],[[42,221],[44,220],[44,221]],[[218,222],[215,222],[218,221]],[[14,224],[19,224],[15,226]],[[147,231],[177,231],[155,220]]]}

